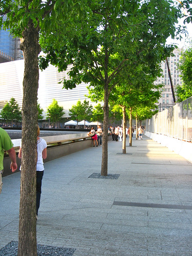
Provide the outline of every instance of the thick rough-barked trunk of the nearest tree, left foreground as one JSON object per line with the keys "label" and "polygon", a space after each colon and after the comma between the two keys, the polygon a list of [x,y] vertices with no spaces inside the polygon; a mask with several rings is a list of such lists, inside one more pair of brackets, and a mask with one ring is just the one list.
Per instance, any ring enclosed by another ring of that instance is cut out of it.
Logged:
{"label": "thick rough-barked trunk of the nearest tree, left foreground", "polygon": [[18,255],[37,255],[36,242],[36,161],[37,161],[37,89],[38,89],[38,28],[32,20],[23,32],[25,70],[22,108],[22,170],[20,178],[20,209]]}

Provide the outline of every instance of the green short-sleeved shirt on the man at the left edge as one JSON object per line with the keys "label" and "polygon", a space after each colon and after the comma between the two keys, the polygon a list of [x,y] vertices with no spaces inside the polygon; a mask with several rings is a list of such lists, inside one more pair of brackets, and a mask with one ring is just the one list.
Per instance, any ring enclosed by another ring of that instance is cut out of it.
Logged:
{"label": "green short-sleeved shirt on the man at the left edge", "polygon": [[13,143],[8,133],[0,128],[0,170],[3,170],[4,150],[8,151],[13,147]]}

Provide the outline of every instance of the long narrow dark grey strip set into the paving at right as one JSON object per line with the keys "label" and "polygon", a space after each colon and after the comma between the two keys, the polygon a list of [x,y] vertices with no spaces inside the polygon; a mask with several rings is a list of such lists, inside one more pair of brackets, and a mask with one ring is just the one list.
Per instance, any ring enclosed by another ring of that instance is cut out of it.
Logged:
{"label": "long narrow dark grey strip set into the paving at right", "polygon": [[147,208],[192,210],[191,205],[179,205],[179,204],[154,204],[154,203],[135,203],[135,202],[114,201],[113,205],[133,206],[133,207],[147,207]]}

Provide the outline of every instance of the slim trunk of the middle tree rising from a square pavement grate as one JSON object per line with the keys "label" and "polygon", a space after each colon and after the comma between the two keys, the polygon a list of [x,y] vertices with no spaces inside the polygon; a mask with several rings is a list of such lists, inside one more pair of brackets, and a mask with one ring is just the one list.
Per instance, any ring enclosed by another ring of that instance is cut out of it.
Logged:
{"label": "slim trunk of the middle tree rising from a square pavement grate", "polygon": [[103,105],[103,141],[102,141],[101,176],[108,176],[108,123],[109,123],[109,94],[108,94],[108,84],[105,84],[104,105]]}

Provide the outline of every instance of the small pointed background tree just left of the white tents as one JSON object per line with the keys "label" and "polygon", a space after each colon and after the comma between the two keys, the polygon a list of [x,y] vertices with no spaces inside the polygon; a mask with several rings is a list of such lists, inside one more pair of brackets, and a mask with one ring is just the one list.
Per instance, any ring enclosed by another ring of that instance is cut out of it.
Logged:
{"label": "small pointed background tree just left of the white tents", "polygon": [[61,120],[64,114],[65,112],[63,111],[63,107],[58,105],[56,99],[53,99],[53,102],[48,106],[46,119],[56,123]]}

